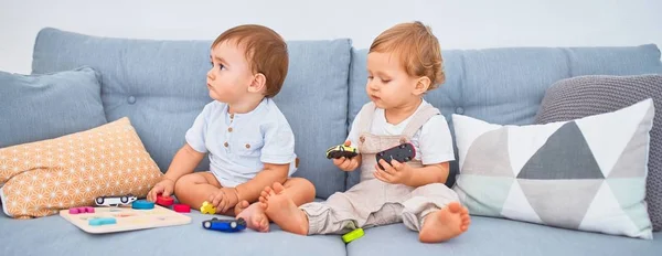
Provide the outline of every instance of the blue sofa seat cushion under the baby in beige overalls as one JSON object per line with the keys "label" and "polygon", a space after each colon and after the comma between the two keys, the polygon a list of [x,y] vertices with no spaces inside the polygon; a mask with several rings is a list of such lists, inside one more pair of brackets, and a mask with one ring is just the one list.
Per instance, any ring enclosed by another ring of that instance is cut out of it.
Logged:
{"label": "blue sofa seat cushion under the baby in beige overalls", "polygon": [[659,255],[662,236],[653,241],[577,232],[502,218],[472,216],[465,234],[439,244],[418,242],[403,224],[365,230],[348,244],[348,255]]}

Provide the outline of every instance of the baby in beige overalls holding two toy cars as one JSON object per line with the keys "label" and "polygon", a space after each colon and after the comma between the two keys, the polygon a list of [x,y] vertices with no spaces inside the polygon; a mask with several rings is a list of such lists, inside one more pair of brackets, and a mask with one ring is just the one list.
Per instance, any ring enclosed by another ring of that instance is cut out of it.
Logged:
{"label": "baby in beige overalls holding two toy cars", "polygon": [[[334,159],[343,171],[360,167],[361,182],[325,202],[297,206],[288,188],[275,184],[259,201],[282,230],[301,235],[345,234],[354,228],[404,222],[425,243],[439,243],[469,228],[468,210],[447,188],[452,138],[439,109],[423,96],[445,82],[437,38],[420,22],[397,24],[377,36],[367,54],[371,102],[352,124],[346,146],[360,154]],[[416,157],[406,163],[375,153],[410,142]]]}

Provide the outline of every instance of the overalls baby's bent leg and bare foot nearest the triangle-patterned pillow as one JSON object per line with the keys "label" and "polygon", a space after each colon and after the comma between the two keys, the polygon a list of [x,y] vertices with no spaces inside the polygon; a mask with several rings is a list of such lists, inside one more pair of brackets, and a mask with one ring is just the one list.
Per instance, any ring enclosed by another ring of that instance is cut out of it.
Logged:
{"label": "overalls baby's bent leg and bare foot nearest the triangle-patterned pillow", "polygon": [[441,183],[419,186],[404,202],[403,221],[418,231],[424,243],[440,243],[465,233],[471,223],[469,211],[459,203],[455,191]]}

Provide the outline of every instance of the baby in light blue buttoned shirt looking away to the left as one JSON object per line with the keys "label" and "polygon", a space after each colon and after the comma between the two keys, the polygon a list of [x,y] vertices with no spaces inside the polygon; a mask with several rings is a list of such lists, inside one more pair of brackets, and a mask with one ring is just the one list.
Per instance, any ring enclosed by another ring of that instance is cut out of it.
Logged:
{"label": "baby in light blue buttoned shirt looking away to the left", "polygon": [[[287,44],[266,26],[239,25],[213,42],[210,63],[206,87],[214,100],[195,118],[186,143],[148,200],[174,192],[194,209],[207,201],[221,214],[243,217],[248,227],[266,232],[269,220],[263,207],[250,205],[265,186],[284,183],[297,205],[314,199],[312,183],[290,178],[297,170],[295,136],[271,99],[287,76]],[[207,153],[211,170],[193,172]]]}

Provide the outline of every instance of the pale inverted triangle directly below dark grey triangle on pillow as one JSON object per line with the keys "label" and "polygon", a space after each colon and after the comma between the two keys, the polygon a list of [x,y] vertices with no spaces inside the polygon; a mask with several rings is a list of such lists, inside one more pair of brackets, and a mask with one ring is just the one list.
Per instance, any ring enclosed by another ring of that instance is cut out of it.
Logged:
{"label": "pale inverted triangle directly below dark grey triangle on pillow", "polygon": [[[579,228],[604,179],[573,180],[521,180],[524,196],[544,224],[570,230]],[[553,196],[549,196],[553,195]]]}

